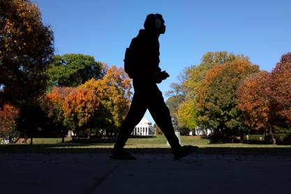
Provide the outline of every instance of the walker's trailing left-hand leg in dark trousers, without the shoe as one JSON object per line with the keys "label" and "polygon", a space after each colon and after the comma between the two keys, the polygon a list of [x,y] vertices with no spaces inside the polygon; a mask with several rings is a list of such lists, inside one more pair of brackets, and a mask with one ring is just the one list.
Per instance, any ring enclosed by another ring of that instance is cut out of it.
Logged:
{"label": "walker's trailing left-hand leg in dark trousers, without the shoe", "polygon": [[132,133],[135,126],[140,122],[142,117],[144,117],[146,111],[147,107],[144,103],[144,96],[140,93],[135,93],[126,119],[124,119],[121,125],[114,149],[124,149],[124,145],[130,133]]}

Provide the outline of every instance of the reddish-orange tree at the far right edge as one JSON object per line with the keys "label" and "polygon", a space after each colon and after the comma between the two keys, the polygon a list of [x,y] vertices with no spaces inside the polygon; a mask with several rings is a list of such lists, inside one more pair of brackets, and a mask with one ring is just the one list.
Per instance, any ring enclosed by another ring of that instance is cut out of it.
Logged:
{"label": "reddish-orange tree at the far right edge", "polygon": [[237,89],[237,107],[244,112],[246,125],[269,131],[275,144],[275,130],[291,126],[291,53],[284,54],[271,73],[263,71],[245,80]]}

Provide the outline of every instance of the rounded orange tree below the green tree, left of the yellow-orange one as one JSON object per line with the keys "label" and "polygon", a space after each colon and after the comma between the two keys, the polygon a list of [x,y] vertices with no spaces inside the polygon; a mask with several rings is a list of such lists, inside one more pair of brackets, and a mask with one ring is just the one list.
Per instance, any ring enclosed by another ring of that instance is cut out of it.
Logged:
{"label": "rounded orange tree below the green tree, left of the yellow-orange one", "polygon": [[78,132],[80,128],[94,127],[100,101],[93,91],[81,87],[54,87],[44,101],[47,116],[60,130]]}

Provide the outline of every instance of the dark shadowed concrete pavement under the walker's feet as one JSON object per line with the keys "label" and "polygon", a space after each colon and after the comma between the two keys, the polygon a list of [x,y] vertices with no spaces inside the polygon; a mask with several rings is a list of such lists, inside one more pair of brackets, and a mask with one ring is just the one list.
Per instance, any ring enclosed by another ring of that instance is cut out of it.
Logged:
{"label": "dark shadowed concrete pavement under the walker's feet", "polygon": [[291,156],[0,154],[0,193],[291,193]]}

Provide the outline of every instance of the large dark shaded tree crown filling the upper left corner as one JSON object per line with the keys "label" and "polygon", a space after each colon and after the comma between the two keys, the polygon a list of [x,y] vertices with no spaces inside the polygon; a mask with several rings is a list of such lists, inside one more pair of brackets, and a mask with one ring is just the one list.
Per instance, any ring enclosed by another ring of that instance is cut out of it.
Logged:
{"label": "large dark shaded tree crown filling the upper left corner", "polygon": [[0,1],[0,107],[27,106],[45,92],[53,32],[29,0]]}

